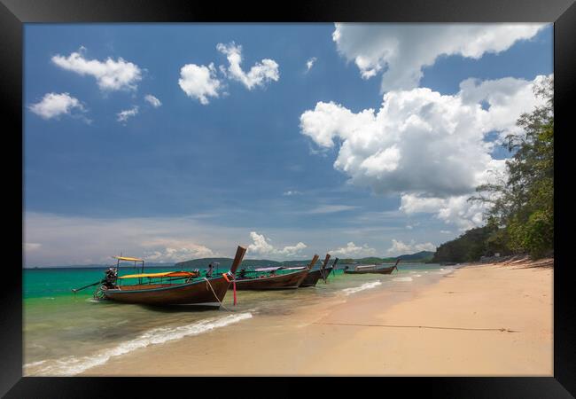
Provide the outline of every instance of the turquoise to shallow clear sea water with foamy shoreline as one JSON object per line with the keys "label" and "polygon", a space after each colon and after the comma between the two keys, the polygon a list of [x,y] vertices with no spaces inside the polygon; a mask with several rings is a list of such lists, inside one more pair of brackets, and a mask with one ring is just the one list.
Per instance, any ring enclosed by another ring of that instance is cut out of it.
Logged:
{"label": "turquoise to shallow clear sea water with foamy shoreline", "polygon": [[[297,290],[229,292],[227,309],[198,311],[188,307],[151,308],[142,305],[94,301],[96,287],[72,293],[103,278],[105,269],[23,270],[23,340],[25,375],[74,375],[111,356],[184,336],[210,333],[214,328],[242,323],[251,317],[289,313],[337,295],[358,295],[393,286],[432,283],[454,268],[434,264],[400,265],[392,275],[346,275],[336,270],[328,284]],[[146,272],[173,269],[146,268]],[[224,272],[226,270],[219,270]],[[134,268],[121,269],[120,275]]]}

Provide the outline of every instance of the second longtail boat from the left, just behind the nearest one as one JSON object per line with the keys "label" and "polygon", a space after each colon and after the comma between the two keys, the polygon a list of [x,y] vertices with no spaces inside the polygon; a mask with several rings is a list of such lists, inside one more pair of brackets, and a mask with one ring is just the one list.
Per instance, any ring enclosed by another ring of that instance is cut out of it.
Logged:
{"label": "second longtail boat from the left, just behind the nearest one", "polygon": [[304,278],[307,277],[308,271],[314,267],[317,261],[318,255],[315,254],[312,262],[307,266],[279,266],[255,270],[239,270],[234,277],[236,289],[261,291],[298,288]]}

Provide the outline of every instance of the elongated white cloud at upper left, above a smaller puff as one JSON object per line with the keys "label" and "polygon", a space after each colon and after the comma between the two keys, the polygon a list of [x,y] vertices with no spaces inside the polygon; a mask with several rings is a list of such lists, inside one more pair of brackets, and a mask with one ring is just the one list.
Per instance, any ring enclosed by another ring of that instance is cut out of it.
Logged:
{"label": "elongated white cloud at upper left, above a smaller puff", "polygon": [[85,59],[83,52],[74,51],[68,57],[55,55],[52,62],[57,66],[80,75],[90,75],[96,78],[100,90],[136,90],[136,83],[142,80],[142,71],[131,62],[122,58]]}

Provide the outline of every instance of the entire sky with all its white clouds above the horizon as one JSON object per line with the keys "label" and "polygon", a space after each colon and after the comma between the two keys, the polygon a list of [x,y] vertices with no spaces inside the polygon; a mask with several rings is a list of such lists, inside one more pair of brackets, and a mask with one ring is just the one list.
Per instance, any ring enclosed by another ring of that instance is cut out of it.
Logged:
{"label": "entire sky with all its white clouds above the horizon", "polygon": [[25,24],[25,265],[434,251],[550,24]]}

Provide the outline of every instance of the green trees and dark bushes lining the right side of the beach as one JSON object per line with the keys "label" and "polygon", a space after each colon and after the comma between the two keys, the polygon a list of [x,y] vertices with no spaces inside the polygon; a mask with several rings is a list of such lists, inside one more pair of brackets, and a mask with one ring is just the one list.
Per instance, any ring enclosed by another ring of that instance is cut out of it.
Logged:
{"label": "green trees and dark bushes lining the right side of the beach", "polygon": [[[506,177],[477,187],[469,200],[487,207],[485,227],[438,248],[435,262],[467,262],[481,254],[527,253],[533,258],[554,251],[554,80],[534,88],[545,100],[517,121],[523,133],[506,137],[512,154]],[[478,240],[478,242],[477,242]],[[450,258],[451,257],[451,258]]]}

